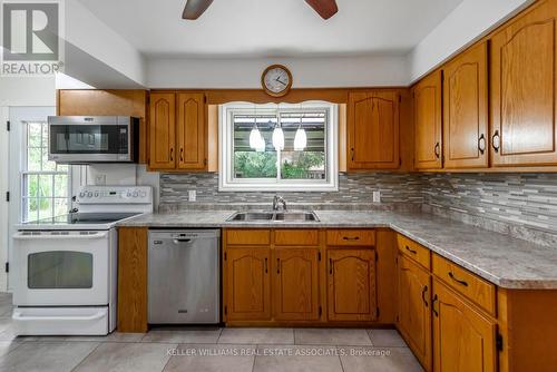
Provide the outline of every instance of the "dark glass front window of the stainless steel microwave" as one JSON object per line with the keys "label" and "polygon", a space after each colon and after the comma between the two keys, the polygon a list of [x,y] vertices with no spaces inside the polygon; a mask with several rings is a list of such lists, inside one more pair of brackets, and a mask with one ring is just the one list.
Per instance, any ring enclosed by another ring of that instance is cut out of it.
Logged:
{"label": "dark glass front window of the stainless steel microwave", "polygon": [[50,126],[51,154],[126,154],[127,145],[127,126]]}

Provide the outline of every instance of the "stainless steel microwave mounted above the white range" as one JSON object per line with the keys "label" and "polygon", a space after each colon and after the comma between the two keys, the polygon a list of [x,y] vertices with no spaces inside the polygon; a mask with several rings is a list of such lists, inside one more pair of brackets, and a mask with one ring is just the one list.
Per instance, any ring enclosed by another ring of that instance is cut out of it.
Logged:
{"label": "stainless steel microwave mounted above the white range", "polygon": [[138,118],[49,116],[48,134],[48,159],[56,163],[136,163],[138,158]]}

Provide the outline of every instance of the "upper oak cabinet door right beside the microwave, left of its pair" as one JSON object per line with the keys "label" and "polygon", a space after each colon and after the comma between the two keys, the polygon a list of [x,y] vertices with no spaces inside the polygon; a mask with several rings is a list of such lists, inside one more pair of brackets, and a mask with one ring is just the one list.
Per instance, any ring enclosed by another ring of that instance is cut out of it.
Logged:
{"label": "upper oak cabinet door right beside the microwave, left of its pair", "polygon": [[176,96],[174,94],[152,94],[149,104],[149,168],[174,169]]}

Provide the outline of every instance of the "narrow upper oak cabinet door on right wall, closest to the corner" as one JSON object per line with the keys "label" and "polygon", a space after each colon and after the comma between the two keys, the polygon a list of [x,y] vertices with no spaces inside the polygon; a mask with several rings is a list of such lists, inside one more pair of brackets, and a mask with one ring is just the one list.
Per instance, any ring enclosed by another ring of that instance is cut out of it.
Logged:
{"label": "narrow upper oak cabinet door on right wall, closest to the corner", "polygon": [[436,71],[413,90],[414,106],[414,167],[436,169],[442,167],[441,150],[441,71]]}

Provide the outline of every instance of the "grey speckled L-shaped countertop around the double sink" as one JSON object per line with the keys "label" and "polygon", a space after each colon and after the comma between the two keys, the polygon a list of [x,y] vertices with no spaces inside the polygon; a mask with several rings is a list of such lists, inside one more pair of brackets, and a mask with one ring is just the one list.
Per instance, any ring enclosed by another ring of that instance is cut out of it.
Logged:
{"label": "grey speckled L-shaped countertop around the double sink", "polygon": [[119,226],[156,227],[390,227],[505,288],[557,290],[557,248],[426,213],[315,211],[320,222],[226,222],[233,211],[148,214]]}

